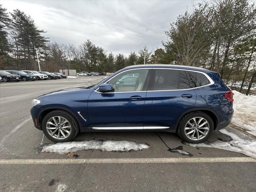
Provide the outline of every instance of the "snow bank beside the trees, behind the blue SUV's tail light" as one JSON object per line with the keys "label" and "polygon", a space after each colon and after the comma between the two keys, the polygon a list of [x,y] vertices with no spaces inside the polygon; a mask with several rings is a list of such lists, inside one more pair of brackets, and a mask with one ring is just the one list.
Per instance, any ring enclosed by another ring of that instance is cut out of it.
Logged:
{"label": "snow bank beside the trees, behind the blue SUV's tail light", "polygon": [[256,135],[256,96],[246,96],[238,91],[234,92],[234,116],[232,122]]}

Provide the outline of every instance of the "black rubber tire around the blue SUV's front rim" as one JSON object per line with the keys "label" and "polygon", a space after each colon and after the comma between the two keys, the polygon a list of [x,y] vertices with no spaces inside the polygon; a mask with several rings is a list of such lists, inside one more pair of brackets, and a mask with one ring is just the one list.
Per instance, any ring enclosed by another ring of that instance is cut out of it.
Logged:
{"label": "black rubber tire around the blue SUV's front rim", "polygon": [[[46,122],[53,116],[61,116],[61,117],[65,118],[66,120],[68,120],[68,122],[70,123],[70,126],[71,126],[70,131],[71,132],[67,138],[64,138],[64,139],[53,138],[47,132]],[[48,113],[46,116],[44,116],[44,119],[42,120],[42,130],[43,130],[45,136],[54,142],[68,142],[68,141],[71,141],[78,134],[79,126],[78,126],[76,119],[70,113],[63,111],[63,110],[55,110],[55,111]]]}

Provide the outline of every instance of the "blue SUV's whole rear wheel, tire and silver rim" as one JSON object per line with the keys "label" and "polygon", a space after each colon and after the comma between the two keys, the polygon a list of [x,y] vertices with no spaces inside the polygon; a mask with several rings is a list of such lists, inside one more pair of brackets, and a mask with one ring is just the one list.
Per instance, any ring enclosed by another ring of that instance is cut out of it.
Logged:
{"label": "blue SUV's whole rear wheel, tire and silver rim", "polygon": [[178,134],[186,142],[201,143],[209,138],[213,129],[210,116],[203,112],[192,112],[180,121]]}

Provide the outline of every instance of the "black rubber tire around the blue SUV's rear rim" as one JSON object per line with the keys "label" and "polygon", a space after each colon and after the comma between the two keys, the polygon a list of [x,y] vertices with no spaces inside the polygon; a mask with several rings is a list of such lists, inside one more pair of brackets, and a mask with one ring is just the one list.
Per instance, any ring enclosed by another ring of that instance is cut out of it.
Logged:
{"label": "black rubber tire around the blue SUV's rear rim", "polygon": [[[192,140],[192,139],[188,138],[186,136],[186,134],[185,134],[186,123],[190,119],[195,118],[195,117],[202,117],[205,120],[207,120],[208,124],[209,124],[209,131],[208,131],[207,135],[204,138],[200,139],[200,140]],[[212,118],[210,116],[208,116],[207,114],[205,114],[204,112],[197,111],[197,112],[192,112],[192,113],[189,113],[189,114],[185,115],[180,120],[177,133],[180,136],[180,138],[182,138],[182,140],[184,140],[186,142],[189,142],[189,143],[202,143],[202,142],[206,141],[210,137],[210,135],[212,134],[213,129],[214,129],[214,123],[212,121]]]}

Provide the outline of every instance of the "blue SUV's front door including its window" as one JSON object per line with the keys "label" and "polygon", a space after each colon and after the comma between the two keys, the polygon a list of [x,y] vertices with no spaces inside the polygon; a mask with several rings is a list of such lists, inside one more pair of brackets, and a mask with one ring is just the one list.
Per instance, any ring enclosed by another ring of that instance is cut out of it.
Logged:
{"label": "blue SUV's front door including its window", "polygon": [[[143,129],[143,111],[151,69],[120,72],[108,80],[114,92],[92,92],[88,99],[88,116],[92,129]],[[120,84],[126,76],[136,76],[130,86]]]}

